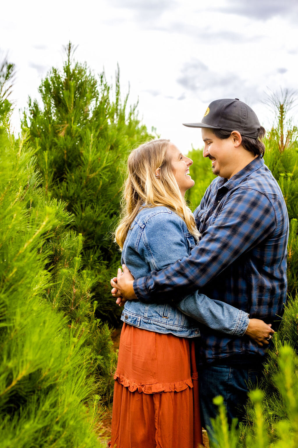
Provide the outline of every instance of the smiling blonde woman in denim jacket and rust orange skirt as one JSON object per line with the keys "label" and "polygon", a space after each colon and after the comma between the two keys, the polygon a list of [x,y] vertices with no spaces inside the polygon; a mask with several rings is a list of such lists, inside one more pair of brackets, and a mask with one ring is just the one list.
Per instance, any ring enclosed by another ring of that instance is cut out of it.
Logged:
{"label": "smiling blonde woman in denim jacket and rust orange skirt", "polygon": [[[145,143],[128,158],[125,211],[116,241],[122,263],[135,278],[188,256],[199,239],[184,199],[194,185],[192,163],[169,140]],[[193,344],[200,334],[197,321],[234,336],[247,333],[259,344],[273,332],[263,321],[202,294],[181,299],[175,306],[139,301],[124,306],[111,447],[193,448],[202,443]]]}

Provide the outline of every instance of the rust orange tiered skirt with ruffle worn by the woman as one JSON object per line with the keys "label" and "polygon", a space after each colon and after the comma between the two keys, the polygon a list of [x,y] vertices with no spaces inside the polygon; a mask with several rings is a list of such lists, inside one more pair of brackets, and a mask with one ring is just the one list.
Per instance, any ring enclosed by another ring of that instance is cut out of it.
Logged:
{"label": "rust orange tiered skirt with ruffle worn by the woman", "polygon": [[193,340],[123,324],[111,448],[202,444]]}

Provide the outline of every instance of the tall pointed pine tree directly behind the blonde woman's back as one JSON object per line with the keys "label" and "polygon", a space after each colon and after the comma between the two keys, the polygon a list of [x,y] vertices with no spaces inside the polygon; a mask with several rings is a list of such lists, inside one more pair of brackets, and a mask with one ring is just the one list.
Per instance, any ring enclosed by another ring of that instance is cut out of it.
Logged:
{"label": "tall pointed pine tree directly behind the blonde woman's back", "polygon": [[83,236],[80,268],[94,278],[95,315],[118,325],[121,310],[109,280],[121,258],[111,232],[119,217],[122,168],[132,147],[151,136],[137,105],[127,112],[128,95],[121,100],[119,68],[113,99],[104,73],[97,79],[86,63],[74,62],[71,43],[66,53],[63,71],[53,68],[42,81],[42,107],[29,99],[23,129],[37,149],[46,196],[67,202],[75,216],[70,228]]}

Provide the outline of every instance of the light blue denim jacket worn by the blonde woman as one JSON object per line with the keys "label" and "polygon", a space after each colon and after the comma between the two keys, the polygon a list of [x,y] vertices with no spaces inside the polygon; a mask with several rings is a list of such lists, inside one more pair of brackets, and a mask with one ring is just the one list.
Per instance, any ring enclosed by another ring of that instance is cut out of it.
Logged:
{"label": "light blue denim jacket worn by the blonde woman", "polygon": [[[167,207],[144,207],[130,226],[122,263],[134,278],[139,278],[188,256],[195,245],[185,222],[175,212]],[[182,298],[175,306],[128,301],[121,319],[135,327],[181,337],[200,336],[198,322],[229,335],[242,336],[249,322],[244,311],[197,292]]]}

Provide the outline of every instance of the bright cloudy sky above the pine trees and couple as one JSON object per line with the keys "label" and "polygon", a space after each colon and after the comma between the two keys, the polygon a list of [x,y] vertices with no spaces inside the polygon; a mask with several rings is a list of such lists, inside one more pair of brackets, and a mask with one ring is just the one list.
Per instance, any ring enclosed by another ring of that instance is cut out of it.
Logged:
{"label": "bright cloudy sky above the pine trees and couple", "polygon": [[28,0],[1,5],[0,49],[16,64],[13,125],[28,95],[63,45],[112,82],[120,66],[122,94],[139,97],[139,116],[187,153],[201,146],[201,121],[218,98],[248,103],[266,127],[268,89],[298,89],[297,0]]}

